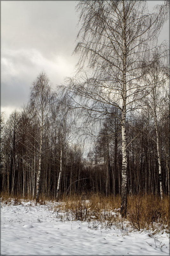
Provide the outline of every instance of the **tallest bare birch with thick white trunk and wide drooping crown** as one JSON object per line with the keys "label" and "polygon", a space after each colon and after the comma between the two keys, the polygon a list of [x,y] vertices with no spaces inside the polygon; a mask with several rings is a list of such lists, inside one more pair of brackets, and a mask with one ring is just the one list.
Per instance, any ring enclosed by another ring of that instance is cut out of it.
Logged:
{"label": "tallest bare birch with thick white trunk and wide drooping crown", "polygon": [[[167,3],[149,13],[146,1],[80,1],[81,29],[75,53],[80,54],[78,73],[70,78],[68,94],[77,107],[94,118],[118,107],[122,116],[122,204],[127,211],[126,114],[139,107],[138,83],[141,58],[149,50],[168,18]],[[72,97],[72,96],[71,96]],[[83,99],[83,101],[82,101]]]}

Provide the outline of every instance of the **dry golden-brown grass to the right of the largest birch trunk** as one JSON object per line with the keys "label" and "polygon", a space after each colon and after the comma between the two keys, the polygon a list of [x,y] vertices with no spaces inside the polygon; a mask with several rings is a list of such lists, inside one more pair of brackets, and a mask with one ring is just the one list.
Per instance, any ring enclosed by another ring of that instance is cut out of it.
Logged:
{"label": "dry golden-brown grass to the right of the largest birch trunk", "polygon": [[161,202],[155,195],[137,195],[128,197],[127,218],[134,229],[169,230],[169,197]]}

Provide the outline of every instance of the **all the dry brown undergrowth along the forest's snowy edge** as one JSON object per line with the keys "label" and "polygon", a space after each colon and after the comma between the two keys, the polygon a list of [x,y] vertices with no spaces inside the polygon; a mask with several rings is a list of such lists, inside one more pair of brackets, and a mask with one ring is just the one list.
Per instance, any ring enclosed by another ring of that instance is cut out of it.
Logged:
{"label": "all the dry brown undergrowth along the forest's snowy edge", "polygon": [[[30,199],[31,198],[25,198]],[[39,204],[48,204],[49,198],[41,197]],[[7,194],[1,195],[1,202],[10,204]],[[22,204],[21,197],[12,200],[13,205]],[[55,202],[53,200],[53,202]],[[101,194],[61,196],[52,209],[61,221],[87,221],[90,228],[119,228],[124,231],[147,230],[153,234],[170,229],[169,197],[139,194],[127,198],[127,219],[120,215],[121,197]]]}

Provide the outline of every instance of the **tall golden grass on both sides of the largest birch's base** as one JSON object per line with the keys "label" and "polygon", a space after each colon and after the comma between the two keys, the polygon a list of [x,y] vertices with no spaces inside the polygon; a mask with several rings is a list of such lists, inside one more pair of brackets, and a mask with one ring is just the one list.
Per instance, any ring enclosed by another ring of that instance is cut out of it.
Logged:
{"label": "tall golden grass on both sides of the largest birch's base", "polygon": [[[103,196],[86,195],[63,197],[59,210],[71,213],[74,220],[109,221],[110,225],[122,222],[124,219],[119,214],[121,197],[117,195]],[[115,212],[116,214],[112,214]],[[134,195],[127,198],[127,219],[135,230],[169,230],[169,197],[165,196],[161,202],[159,196]]]}

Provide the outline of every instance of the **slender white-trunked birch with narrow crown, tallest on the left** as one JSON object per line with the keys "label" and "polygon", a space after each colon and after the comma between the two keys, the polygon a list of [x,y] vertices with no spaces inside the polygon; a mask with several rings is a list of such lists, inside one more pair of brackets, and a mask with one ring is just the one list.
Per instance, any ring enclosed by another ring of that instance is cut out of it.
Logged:
{"label": "slender white-trunked birch with narrow crown, tallest on the left", "polygon": [[39,160],[38,160],[38,173],[36,183],[36,202],[39,201],[39,182],[41,173],[41,161],[43,152],[43,131],[47,122],[49,113],[51,111],[51,85],[49,78],[44,71],[39,73],[36,80],[33,82],[31,87],[30,102],[33,108],[33,112],[36,115],[37,124],[40,128],[39,137]]}

